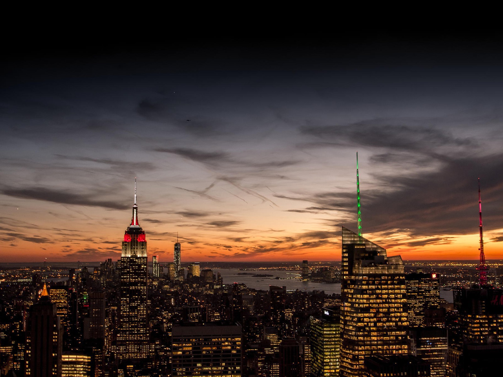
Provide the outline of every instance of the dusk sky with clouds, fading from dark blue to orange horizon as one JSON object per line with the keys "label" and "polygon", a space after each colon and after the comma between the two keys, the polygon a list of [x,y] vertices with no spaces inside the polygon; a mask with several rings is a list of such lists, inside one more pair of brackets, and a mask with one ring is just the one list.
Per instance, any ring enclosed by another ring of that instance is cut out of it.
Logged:
{"label": "dusk sky with clouds, fading from dark blue to orange horizon", "polygon": [[1,262],[503,258],[499,36],[211,36],[8,46]]}

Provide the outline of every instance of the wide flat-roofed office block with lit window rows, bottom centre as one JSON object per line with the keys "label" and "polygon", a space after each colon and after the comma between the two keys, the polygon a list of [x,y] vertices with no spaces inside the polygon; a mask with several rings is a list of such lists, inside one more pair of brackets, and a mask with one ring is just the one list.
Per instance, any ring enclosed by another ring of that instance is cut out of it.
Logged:
{"label": "wide flat-roofed office block with lit window rows, bottom centre", "polygon": [[184,324],[172,329],[172,376],[241,377],[241,326]]}

